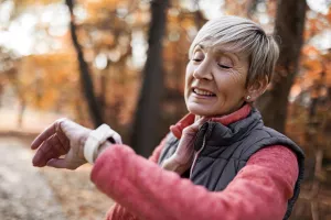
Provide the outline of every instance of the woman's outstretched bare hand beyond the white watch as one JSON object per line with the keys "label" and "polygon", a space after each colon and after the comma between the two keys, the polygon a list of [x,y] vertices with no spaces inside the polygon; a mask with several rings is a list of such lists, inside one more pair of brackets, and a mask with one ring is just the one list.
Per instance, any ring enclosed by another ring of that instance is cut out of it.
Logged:
{"label": "woman's outstretched bare hand beyond the white watch", "polygon": [[[31,148],[38,150],[33,165],[75,169],[87,163],[84,144],[90,132],[90,129],[68,119],[56,120],[32,142]],[[63,155],[65,157],[60,158]]]}

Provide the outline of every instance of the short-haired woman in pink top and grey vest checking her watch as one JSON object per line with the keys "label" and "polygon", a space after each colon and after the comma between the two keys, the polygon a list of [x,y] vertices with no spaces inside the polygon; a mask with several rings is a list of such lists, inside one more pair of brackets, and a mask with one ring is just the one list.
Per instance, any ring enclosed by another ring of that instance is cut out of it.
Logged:
{"label": "short-haired woman in pink top and grey vest checking her watch", "polygon": [[33,165],[74,169],[94,163],[92,182],[117,202],[107,219],[288,219],[305,156],[265,127],[253,107],[278,53],[273,36],[253,21],[211,20],[190,48],[189,114],[149,160],[105,124],[92,131],[64,119],[34,140]]}

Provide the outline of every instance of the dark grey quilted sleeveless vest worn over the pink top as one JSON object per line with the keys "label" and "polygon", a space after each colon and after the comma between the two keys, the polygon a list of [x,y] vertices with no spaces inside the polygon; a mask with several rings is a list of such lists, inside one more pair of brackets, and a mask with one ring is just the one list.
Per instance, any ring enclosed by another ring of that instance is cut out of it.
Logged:
{"label": "dark grey quilted sleeveless vest worn over the pink top", "polygon": [[[179,140],[170,132],[159,164],[175,152],[178,144]],[[226,127],[209,121],[200,128],[194,141],[194,148],[199,151],[199,155],[191,167],[192,173],[189,178],[195,185],[202,185],[210,191],[222,191],[254,153],[270,145],[287,146],[298,157],[299,176],[284,217],[288,219],[300,193],[305,154],[290,139],[264,127],[261,116],[256,109],[253,109],[247,118]]]}

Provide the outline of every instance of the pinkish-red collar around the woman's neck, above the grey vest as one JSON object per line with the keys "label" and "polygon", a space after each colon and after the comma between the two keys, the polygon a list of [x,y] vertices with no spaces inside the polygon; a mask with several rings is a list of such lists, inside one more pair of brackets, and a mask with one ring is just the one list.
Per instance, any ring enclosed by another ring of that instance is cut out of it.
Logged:
{"label": "pinkish-red collar around the woman's neck, above the grey vest", "polygon": [[[223,117],[210,118],[209,121],[220,122],[223,125],[228,125],[231,123],[245,119],[250,111],[252,111],[252,107],[250,105],[247,103],[233,113]],[[194,120],[195,120],[195,114],[189,113],[184,118],[182,118],[177,124],[171,125],[170,131],[173,133],[173,135],[177,139],[180,139],[182,136],[183,129],[191,125],[194,122]]]}

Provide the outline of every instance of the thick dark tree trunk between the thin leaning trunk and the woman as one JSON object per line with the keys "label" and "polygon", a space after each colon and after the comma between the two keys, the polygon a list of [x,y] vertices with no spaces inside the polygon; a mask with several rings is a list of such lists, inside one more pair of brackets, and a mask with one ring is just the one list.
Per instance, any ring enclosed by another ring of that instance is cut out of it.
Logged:
{"label": "thick dark tree trunk between the thin leaning trunk and the woman", "polygon": [[151,1],[149,50],[131,133],[131,145],[142,156],[149,156],[158,141],[160,101],[163,91],[162,37],[166,30],[167,8],[168,0]]}

